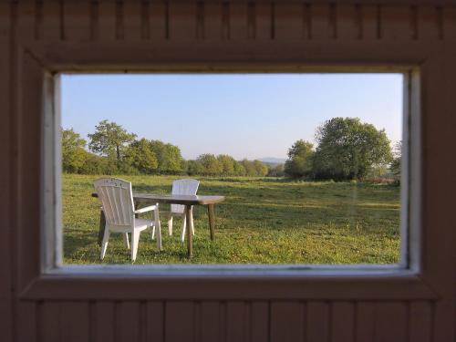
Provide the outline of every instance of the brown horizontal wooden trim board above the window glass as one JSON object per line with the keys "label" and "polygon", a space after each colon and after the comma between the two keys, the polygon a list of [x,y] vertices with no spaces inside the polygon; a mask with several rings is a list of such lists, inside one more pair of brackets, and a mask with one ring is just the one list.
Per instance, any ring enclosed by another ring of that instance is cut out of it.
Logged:
{"label": "brown horizontal wooden trim board above the window glass", "polygon": [[[256,40],[249,44],[229,40],[225,44],[198,40],[178,45],[156,42],[138,45],[131,42],[27,44],[27,49],[50,70],[58,71],[167,71],[167,72],[305,72],[305,71],[373,71],[375,67],[391,71],[394,67],[416,66],[429,57],[437,43],[428,41],[429,49],[413,41],[337,41],[312,40],[303,49],[293,41]],[[343,52],[340,52],[343,49]],[[400,50],[398,55],[389,51]],[[230,62],[226,60],[227,54]],[[281,57],[286,54],[287,58]],[[334,55],[338,54],[335,64]],[[254,56],[246,60],[245,55]],[[326,68],[325,68],[326,67]],[[332,68],[329,68],[332,67]],[[398,71],[398,70],[394,70]],[[404,67],[403,71],[406,71]]]}

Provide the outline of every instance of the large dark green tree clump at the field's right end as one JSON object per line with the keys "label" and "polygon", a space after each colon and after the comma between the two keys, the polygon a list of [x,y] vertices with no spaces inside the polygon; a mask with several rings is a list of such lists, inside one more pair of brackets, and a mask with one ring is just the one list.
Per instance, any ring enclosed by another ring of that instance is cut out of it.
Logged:
{"label": "large dark green tree clump at the field's right end", "polygon": [[363,180],[390,174],[399,181],[401,144],[393,153],[385,130],[358,118],[333,118],[316,130],[316,148],[297,140],[285,174],[314,180]]}

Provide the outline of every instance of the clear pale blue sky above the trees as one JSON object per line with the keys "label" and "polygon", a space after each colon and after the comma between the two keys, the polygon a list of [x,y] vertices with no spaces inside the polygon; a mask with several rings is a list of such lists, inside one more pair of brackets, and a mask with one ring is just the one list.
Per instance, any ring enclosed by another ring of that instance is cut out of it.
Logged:
{"label": "clear pale blue sky above the trees", "polygon": [[402,135],[401,74],[66,74],[62,127],[88,140],[102,119],[139,138],[236,160],[285,159],[334,117]]}

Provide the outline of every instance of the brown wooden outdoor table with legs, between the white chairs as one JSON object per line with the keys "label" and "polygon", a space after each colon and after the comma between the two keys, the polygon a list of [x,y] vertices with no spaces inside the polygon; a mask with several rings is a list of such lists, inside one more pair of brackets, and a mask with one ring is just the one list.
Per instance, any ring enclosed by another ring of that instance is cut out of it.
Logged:
{"label": "brown wooden outdoor table with legs, between the white chairs", "polygon": [[[92,197],[98,197],[97,192],[92,193]],[[135,207],[137,205],[152,205],[155,203],[170,203],[184,205],[185,217],[187,220],[187,248],[188,255],[192,257],[192,229],[190,228],[190,212],[193,205],[207,205],[207,213],[209,217],[209,229],[211,232],[211,240],[214,239],[215,234],[215,213],[214,205],[224,201],[224,196],[199,196],[199,195],[161,195],[155,193],[133,192],[133,201]],[[98,231],[98,244],[101,244],[105,230],[106,218],[104,212],[100,211],[99,217],[99,231]]]}

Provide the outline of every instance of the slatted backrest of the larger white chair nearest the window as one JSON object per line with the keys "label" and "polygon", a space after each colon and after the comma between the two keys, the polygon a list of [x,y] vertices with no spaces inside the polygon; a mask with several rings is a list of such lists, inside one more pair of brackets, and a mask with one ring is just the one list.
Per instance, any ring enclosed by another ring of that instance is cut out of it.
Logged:
{"label": "slatted backrest of the larger white chair nearest the window", "polygon": [[130,181],[117,178],[101,178],[93,182],[98,199],[110,226],[133,225],[134,206]]}

